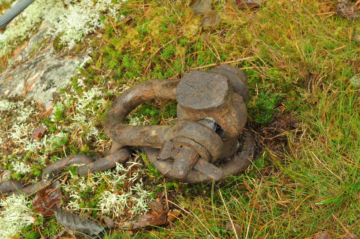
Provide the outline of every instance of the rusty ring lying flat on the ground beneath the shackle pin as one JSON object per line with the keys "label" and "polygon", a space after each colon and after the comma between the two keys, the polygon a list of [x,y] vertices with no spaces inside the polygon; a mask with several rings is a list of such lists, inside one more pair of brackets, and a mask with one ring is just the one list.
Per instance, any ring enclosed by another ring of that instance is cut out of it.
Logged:
{"label": "rusty ring lying flat on the ground beneath the shackle pin", "polygon": [[[219,168],[223,171],[222,176],[219,180],[226,179],[227,177],[233,175],[236,176],[239,173],[246,170],[251,163],[253,155],[255,153],[255,140],[251,134],[248,132],[243,132],[241,135],[241,143],[244,146],[242,152],[235,154],[228,161],[224,162]],[[159,152],[159,149],[152,147],[144,147],[146,154],[148,155],[149,161],[154,164],[154,166],[159,170],[161,174],[166,177],[170,177],[170,169],[172,166],[171,161],[160,162],[156,160],[156,156]],[[196,166],[196,164],[195,164]],[[194,166],[194,168],[195,168]],[[191,170],[186,176],[186,179],[183,182],[187,183],[206,183],[212,181],[213,178],[207,176],[205,173],[200,171]]]}

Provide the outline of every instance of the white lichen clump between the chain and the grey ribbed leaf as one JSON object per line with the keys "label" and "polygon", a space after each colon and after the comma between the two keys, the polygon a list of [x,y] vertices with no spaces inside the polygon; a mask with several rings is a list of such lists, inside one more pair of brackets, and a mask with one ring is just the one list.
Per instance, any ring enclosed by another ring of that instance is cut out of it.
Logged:
{"label": "white lichen clump between the chain and the grey ribbed leaf", "polygon": [[[99,197],[96,205],[102,213],[113,212],[115,216],[123,215],[126,211],[132,214],[149,211],[148,202],[150,200],[146,190],[143,189],[143,182],[139,179],[140,174],[136,170],[131,170],[138,163],[132,163],[129,167],[124,168],[121,164],[116,163],[116,170],[96,172],[90,177],[78,177],[71,172],[71,178],[75,183],[69,182],[63,188],[69,193],[71,201],[68,203],[68,209],[80,209],[80,203],[83,198],[80,196],[82,191],[95,191],[100,185],[107,183],[111,189],[105,190]],[[127,173],[131,170],[132,174],[127,179]],[[128,191],[122,191],[122,186],[129,182],[139,180],[135,186],[131,186]]]}

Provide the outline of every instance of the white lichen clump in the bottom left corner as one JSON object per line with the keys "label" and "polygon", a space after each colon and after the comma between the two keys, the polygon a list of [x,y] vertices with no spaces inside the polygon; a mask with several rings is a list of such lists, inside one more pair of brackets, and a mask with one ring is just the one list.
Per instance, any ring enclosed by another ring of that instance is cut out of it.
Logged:
{"label": "white lichen clump in the bottom left corner", "polygon": [[21,229],[35,221],[32,210],[27,206],[31,201],[22,195],[0,199],[0,239],[18,238]]}

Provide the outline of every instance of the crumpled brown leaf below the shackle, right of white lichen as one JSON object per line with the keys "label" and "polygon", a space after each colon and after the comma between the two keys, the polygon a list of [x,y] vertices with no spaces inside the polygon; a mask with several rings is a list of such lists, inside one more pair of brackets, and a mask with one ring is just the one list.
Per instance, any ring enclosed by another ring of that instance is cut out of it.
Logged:
{"label": "crumpled brown leaf below the shackle, right of white lichen", "polygon": [[157,199],[156,202],[150,202],[149,206],[152,210],[141,216],[138,221],[134,222],[130,229],[131,231],[137,231],[151,226],[161,226],[166,223],[167,213],[164,211],[159,199]]}

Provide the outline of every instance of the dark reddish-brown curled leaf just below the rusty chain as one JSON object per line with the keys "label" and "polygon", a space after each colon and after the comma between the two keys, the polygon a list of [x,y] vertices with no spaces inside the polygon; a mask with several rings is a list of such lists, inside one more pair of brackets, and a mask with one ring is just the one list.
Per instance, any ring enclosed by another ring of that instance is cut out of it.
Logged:
{"label": "dark reddish-brown curled leaf just below the rusty chain", "polygon": [[60,187],[54,190],[59,185],[59,181],[55,184],[43,188],[32,199],[32,207],[35,211],[41,213],[43,216],[54,215],[52,209],[61,206],[61,189]]}

